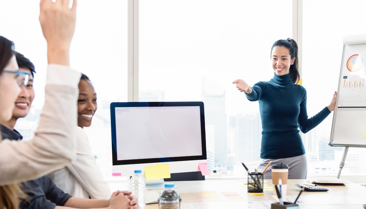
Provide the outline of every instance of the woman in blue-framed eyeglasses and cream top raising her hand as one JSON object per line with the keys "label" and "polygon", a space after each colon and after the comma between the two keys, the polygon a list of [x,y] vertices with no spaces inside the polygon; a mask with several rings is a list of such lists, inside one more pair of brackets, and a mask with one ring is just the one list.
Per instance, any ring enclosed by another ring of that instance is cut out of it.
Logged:
{"label": "woman in blue-framed eyeglasses and cream top raising her hand", "polygon": [[[45,104],[33,140],[0,138],[0,209],[19,207],[21,191],[16,183],[45,175],[76,157],[75,101],[81,73],[69,67],[75,16],[76,0],[71,9],[60,0],[40,2],[49,63]],[[19,86],[26,85],[29,78],[29,74],[19,71],[13,48],[10,40],[0,36],[0,123],[11,119]]]}

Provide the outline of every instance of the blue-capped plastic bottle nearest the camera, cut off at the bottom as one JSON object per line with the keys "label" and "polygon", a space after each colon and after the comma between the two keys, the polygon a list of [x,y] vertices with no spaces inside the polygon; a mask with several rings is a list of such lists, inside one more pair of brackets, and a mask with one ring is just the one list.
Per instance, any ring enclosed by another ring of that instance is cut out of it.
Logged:
{"label": "blue-capped plastic bottle nearest the camera, cut off at the bottom", "polygon": [[179,209],[179,194],[174,190],[173,183],[165,184],[165,190],[158,199],[159,209]]}

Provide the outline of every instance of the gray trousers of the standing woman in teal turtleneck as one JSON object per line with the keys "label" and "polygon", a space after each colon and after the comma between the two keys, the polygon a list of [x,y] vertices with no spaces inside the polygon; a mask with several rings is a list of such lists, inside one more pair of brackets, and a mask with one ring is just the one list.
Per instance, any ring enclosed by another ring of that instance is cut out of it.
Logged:
{"label": "gray trousers of the standing woman in teal turtleneck", "polygon": [[269,161],[272,161],[271,165],[268,166],[264,172],[264,179],[272,179],[272,165],[281,164],[288,165],[288,179],[306,179],[307,173],[307,159],[306,154],[292,157],[292,158],[281,158],[281,159],[261,159],[261,163],[258,166],[258,172],[262,172]]}

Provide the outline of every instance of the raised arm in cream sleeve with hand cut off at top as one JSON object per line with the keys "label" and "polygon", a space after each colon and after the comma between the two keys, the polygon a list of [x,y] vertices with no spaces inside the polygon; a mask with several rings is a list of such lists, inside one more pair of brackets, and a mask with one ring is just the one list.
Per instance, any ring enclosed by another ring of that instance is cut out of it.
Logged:
{"label": "raised arm in cream sleeve with hand cut off at top", "polygon": [[40,23],[49,63],[45,104],[33,140],[0,143],[0,185],[38,178],[76,158],[75,101],[81,74],[68,66],[75,11],[76,0],[71,9],[67,0],[40,2]]}

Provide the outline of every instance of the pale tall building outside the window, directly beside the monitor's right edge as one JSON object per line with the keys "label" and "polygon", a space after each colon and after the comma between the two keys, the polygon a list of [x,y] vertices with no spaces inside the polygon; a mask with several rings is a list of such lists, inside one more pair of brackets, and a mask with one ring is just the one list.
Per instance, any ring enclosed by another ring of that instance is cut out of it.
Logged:
{"label": "pale tall building outside the window, directly beside the monitor's right edge", "polygon": [[214,128],[214,167],[226,171],[226,113],[224,88],[213,81],[203,79],[202,98],[205,104],[205,124]]}

